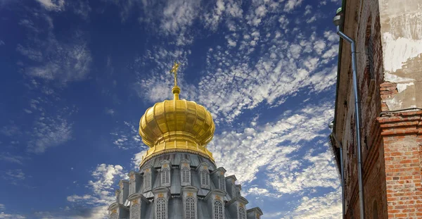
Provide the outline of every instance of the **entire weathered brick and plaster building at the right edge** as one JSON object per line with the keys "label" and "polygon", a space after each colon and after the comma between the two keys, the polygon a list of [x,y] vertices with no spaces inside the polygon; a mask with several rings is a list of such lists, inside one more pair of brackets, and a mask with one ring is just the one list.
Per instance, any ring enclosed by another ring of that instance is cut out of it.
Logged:
{"label": "entire weathered brick and plaster building at the right edge", "polygon": [[[341,29],[357,46],[366,218],[422,218],[421,1],[344,2]],[[343,145],[345,218],[359,218],[350,52],[342,42],[333,134]]]}

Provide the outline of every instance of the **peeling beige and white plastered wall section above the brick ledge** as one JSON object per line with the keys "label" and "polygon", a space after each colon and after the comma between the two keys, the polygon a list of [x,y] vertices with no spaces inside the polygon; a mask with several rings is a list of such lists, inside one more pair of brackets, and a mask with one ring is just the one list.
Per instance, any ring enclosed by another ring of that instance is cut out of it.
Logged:
{"label": "peeling beige and white plastered wall section above the brick ledge", "polygon": [[383,111],[422,108],[422,1],[379,0],[384,80],[395,92]]}

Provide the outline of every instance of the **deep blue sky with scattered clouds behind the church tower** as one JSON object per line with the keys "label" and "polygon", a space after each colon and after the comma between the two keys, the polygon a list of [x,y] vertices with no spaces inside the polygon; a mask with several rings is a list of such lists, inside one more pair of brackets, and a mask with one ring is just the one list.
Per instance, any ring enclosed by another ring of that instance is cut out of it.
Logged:
{"label": "deep blue sky with scattered clouds behind the church tower", "polygon": [[170,99],[213,115],[208,148],[262,218],[340,218],[328,150],[335,0],[0,0],[0,218],[103,218]]}

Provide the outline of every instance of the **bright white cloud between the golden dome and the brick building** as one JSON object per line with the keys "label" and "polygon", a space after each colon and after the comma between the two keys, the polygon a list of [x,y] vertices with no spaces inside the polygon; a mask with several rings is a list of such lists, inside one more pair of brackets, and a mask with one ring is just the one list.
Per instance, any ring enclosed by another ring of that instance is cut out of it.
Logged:
{"label": "bright white cloud between the golden dome and the brick building", "polygon": [[[267,170],[274,170],[274,177],[271,173],[268,175],[273,179],[271,182],[274,182],[274,189],[278,189],[276,183],[279,179],[276,175],[281,170],[276,169],[276,166],[293,168],[292,163],[295,162],[289,158],[291,154],[297,152],[303,142],[324,137],[321,131],[326,130],[326,124],[332,117],[331,104],[307,105],[274,123],[247,127],[242,132],[232,130],[217,134],[208,147],[216,163],[226,168],[229,175],[236,174],[239,182],[255,180],[258,170],[272,163]],[[283,171],[293,170],[287,168]]]}

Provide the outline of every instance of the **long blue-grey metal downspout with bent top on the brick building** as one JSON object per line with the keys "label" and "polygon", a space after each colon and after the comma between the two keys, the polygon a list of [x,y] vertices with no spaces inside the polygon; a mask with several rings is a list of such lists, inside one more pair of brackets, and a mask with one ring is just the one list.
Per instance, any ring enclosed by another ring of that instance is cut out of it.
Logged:
{"label": "long blue-grey metal downspout with bent top on the brick building", "polygon": [[340,27],[337,26],[337,35],[345,39],[350,43],[352,49],[352,71],[353,71],[353,91],[354,91],[354,118],[356,120],[356,138],[357,138],[357,178],[359,184],[359,207],[360,207],[360,218],[365,218],[365,199],[364,199],[364,180],[362,179],[362,148],[360,138],[360,106],[359,106],[359,94],[357,93],[357,63],[356,63],[356,44],[354,40],[347,37],[343,32],[340,31]]}

